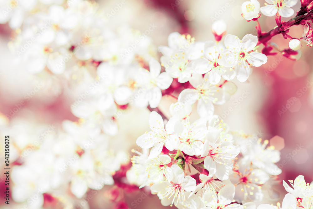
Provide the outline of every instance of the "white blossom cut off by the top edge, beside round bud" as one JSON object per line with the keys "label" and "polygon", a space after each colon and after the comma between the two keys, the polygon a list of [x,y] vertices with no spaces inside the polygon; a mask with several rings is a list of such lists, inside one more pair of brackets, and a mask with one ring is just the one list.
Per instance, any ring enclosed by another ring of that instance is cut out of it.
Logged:
{"label": "white blossom cut off by the top edge, beside round bud", "polygon": [[268,17],[274,16],[277,12],[283,18],[291,17],[295,11],[291,8],[298,0],[265,0],[265,7],[261,7],[261,12]]}

